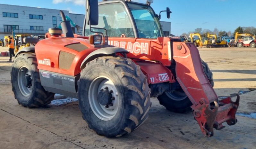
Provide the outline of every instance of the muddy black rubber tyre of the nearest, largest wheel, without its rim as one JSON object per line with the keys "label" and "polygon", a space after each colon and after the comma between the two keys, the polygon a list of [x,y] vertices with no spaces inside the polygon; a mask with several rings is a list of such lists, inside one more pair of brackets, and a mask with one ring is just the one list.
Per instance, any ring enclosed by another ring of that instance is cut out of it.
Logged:
{"label": "muddy black rubber tyre of the nearest, largest wheel, without its rim", "polygon": [[[118,111],[107,121],[93,113],[88,98],[90,83],[99,76],[109,78],[118,90]],[[131,59],[106,56],[89,62],[81,71],[78,96],[84,120],[97,134],[106,137],[121,137],[131,133],[149,116],[151,102],[147,77]]]}

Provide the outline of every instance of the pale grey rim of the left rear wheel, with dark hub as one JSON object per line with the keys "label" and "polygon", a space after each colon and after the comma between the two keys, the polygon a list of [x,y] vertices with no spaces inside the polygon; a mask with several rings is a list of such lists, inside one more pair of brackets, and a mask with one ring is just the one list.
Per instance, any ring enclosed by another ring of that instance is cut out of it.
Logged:
{"label": "pale grey rim of the left rear wheel, with dark hub", "polygon": [[21,67],[18,72],[18,86],[23,96],[28,97],[32,92],[32,77],[27,67]]}

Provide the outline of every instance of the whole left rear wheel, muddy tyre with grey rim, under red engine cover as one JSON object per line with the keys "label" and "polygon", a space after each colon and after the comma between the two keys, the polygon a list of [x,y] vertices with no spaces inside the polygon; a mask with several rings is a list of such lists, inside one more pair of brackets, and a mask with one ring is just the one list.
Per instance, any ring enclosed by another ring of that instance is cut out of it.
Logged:
{"label": "whole left rear wheel, muddy tyre with grey rim, under red engine cover", "polygon": [[15,58],[11,83],[15,99],[24,107],[45,106],[54,99],[54,93],[47,92],[41,86],[34,53],[22,53]]}

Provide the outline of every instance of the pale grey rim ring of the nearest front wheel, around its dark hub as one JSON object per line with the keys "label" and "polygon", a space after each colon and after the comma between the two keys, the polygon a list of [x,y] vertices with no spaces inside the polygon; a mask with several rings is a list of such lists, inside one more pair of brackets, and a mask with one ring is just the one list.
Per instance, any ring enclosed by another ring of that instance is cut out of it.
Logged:
{"label": "pale grey rim ring of the nearest front wheel, around its dark hub", "polygon": [[[107,106],[101,105],[98,94],[101,91],[108,90],[114,100]],[[109,121],[113,119],[119,107],[118,92],[115,84],[107,77],[100,76],[95,78],[89,87],[88,91],[89,104],[92,112],[101,120]]]}

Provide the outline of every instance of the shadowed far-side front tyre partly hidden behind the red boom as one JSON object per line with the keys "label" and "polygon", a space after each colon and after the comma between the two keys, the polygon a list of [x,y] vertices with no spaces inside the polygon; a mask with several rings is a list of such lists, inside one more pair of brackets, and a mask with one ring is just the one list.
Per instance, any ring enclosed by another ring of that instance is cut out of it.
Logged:
{"label": "shadowed far-side front tyre partly hidden behind the red boom", "polygon": [[[208,64],[201,60],[204,73],[206,74],[211,86],[214,86],[213,74]],[[185,92],[179,88],[174,92],[164,92],[158,96],[159,103],[166,107],[167,110],[177,113],[186,113],[191,111],[192,103]]]}

